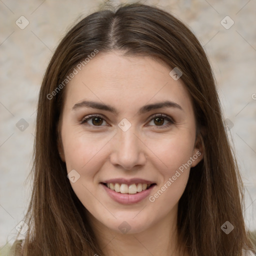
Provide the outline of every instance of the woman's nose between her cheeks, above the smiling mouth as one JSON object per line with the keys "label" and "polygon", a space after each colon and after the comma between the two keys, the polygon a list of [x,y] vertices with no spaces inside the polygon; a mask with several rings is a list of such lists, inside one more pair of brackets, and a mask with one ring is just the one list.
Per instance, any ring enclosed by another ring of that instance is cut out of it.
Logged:
{"label": "woman's nose between her cheeks, above the smiling mouth", "polygon": [[129,170],[145,164],[145,145],[131,127],[127,131],[118,129],[111,147],[110,162],[113,165]]}

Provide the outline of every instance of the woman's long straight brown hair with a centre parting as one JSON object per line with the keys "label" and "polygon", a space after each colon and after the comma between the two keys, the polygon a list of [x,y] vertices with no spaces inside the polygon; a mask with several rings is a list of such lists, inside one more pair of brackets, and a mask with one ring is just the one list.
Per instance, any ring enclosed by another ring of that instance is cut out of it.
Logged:
{"label": "woman's long straight brown hair with a centre parting", "polygon": [[[155,57],[170,70],[178,67],[183,73],[204,158],[191,168],[178,203],[179,247],[185,246],[191,256],[237,256],[243,248],[251,248],[242,214],[241,178],[205,52],[177,18],[159,8],[133,3],[83,18],[67,32],[50,60],[39,94],[33,190],[25,218],[29,229],[21,254],[104,255],[57,150],[58,119],[68,86],[62,82],[95,49]],[[229,234],[221,230],[225,221],[234,226]]]}

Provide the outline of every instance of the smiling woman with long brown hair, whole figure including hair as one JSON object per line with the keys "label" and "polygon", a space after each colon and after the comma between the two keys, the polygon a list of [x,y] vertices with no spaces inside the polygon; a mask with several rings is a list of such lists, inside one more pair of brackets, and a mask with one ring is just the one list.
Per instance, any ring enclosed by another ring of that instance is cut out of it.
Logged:
{"label": "smiling woman with long brown hair, whole figure including hair", "polygon": [[249,255],[207,57],[139,3],[64,36],[39,94],[21,255]]}

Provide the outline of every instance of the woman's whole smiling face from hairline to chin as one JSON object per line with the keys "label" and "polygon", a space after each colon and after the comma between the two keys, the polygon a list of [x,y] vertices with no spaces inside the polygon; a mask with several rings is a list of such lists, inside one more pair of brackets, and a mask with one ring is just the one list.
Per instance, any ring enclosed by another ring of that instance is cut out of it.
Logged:
{"label": "woman's whole smiling face from hairline to chin", "polygon": [[66,85],[61,158],[84,207],[115,231],[176,220],[202,158],[191,100],[170,71],[150,57],[99,52]]}

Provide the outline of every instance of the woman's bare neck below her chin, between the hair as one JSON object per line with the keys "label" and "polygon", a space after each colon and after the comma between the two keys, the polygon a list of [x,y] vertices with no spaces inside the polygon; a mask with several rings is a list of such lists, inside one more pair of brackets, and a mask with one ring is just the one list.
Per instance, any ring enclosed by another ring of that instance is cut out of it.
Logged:
{"label": "woman's bare neck below her chin, between the hair", "polygon": [[167,215],[149,228],[138,233],[120,233],[107,228],[90,216],[101,250],[107,256],[180,256],[177,246],[177,215]]}

